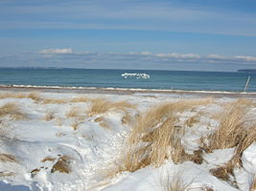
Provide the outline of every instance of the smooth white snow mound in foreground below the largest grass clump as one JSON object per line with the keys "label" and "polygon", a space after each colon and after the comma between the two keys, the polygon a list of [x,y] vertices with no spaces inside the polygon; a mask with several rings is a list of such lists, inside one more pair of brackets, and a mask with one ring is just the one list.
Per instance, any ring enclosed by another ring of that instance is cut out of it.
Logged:
{"label": "smooth white snow mound in foreground below the largest grass clump", "polygon": [[[177,173],[179,172],[179,173]],[[238,191],[222,180],[218,180],[209,174],[209,172],[198,164],[193,162],[184,162],[175,165],[172,162],[161,166],[160,168],[147,167],[140,169],[104,189],[104,191],[122,190],[122,191],[142,191],[142,190],[164,190],[165,180],[173,180],[176,176],[188,185],[189,190],[201,190],[201,187],[214,187],[215,190]]]}

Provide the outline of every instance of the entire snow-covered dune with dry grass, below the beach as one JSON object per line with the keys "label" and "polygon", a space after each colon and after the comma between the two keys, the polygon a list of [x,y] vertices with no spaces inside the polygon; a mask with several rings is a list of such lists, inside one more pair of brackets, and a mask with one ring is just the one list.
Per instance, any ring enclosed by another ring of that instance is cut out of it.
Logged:
{"label": "entire snow-covered dune with dry grass, below the beach", "polygon": [[0,190],[253,190],[255,101],[1,92]]}

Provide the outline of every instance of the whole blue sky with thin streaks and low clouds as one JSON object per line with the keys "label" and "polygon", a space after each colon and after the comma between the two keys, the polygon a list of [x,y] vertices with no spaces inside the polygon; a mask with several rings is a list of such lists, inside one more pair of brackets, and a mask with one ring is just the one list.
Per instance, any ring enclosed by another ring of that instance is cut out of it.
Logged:
{"label": "whole blue sky with thin streaks and low clouds", "polygon": [[0,67],[256,69],[256,0],[0,0]]}

